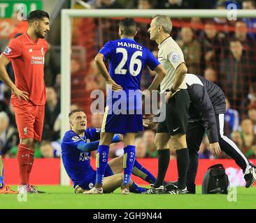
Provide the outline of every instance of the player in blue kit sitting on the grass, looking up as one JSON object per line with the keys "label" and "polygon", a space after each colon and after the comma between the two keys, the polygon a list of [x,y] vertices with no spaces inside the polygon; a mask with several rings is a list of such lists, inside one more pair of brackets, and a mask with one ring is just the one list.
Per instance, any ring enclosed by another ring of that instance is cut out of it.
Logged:
{"label": "player in blue kit sitting on the grass, looking up", "polygon": [[[91,151],[99,146],[100,129],[87,128],[87,117],[82,109],[73,110],[69,114],[71,130],[67,131],[62,139],[62,162],[66,173],[73,181],[76,193],[90,190],[95,185],[96,171],[90,164]],[[120,135],[113,137],[112,142],[118,142]],[[113,192],[122,185],[123,156],[108,162],[103,182],[104,192]],[[155,177],[141,166],[134,163],[132,174],[143,178],[148,183],[155,183]],[[130,192],[145,192],[145,188],[138,187],[132,180],[129,183]]]}

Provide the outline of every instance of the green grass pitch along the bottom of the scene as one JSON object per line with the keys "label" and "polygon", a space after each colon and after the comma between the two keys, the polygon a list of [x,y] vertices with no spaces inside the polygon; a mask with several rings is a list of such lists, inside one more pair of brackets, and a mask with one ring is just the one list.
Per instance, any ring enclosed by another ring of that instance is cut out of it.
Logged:
{"label": "green grass pitch along the bottom of the scene", "polygon": [[[15,189],[15,187],[11,187]],[[27,201],[17,194],[0,194],[1,208],[85,208],[85,209],[197,209],[197,208],[256,208],[256,187],[236,187],[236,195],[209,194],[202,195],[201,187],[197,194],[130,194],[122,195],[120,190],[113,194],[85,195],[74,194],[72,187],[40,186],[47,194],[28,194]],[[236,199],[236,201],[234,201]],[[233,201],[230,201],[233,200]]]}

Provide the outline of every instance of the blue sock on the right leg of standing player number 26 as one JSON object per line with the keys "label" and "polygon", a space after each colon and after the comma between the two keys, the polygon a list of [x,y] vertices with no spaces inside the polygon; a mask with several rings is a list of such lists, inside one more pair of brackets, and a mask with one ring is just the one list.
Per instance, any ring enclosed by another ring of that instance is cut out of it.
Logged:
{"label": "blue sock on the right leg of standing player number 26", "polygon": [[134,162],[136,159],[135,146],[126,146],[124,148],[124,180],[123,185],[128,185],[131,180],[131,172],[134,168]]}

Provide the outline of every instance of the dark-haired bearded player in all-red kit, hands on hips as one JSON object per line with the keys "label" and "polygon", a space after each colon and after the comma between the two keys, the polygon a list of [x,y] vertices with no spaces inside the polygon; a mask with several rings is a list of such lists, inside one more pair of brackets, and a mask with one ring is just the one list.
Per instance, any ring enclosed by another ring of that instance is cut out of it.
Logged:
{"label": "dark-haired bearded player in all-red kit, hands on hips", "polygon": [[[17,162],[20,176],[19,192],[38,193],[29,185],[29,174],[34,162],[37,141],[41,141],[45,115],[45,83],[43,67],[50,31],[49,15],[34,10],[27,18],[27,33],[10,40],[0,56],[0,79],[11,89],[11,103],[15,112],[20,144]],[[6,65],[12,63],[15,84],[8,77]]]}

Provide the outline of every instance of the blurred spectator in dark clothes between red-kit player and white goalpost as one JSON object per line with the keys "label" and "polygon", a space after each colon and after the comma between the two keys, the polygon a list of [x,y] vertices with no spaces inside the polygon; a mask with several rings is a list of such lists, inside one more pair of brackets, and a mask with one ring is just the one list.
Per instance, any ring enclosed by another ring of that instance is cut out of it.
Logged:
{"label": "blurred spectator in dark clothes between red-kit player and white goalpost", "polygon": [[55,121],[60,113],[60,101],[53,87],[46,87],[45,121],[43,139],[54,141],[59,138],[59,132],[53,130]]}

